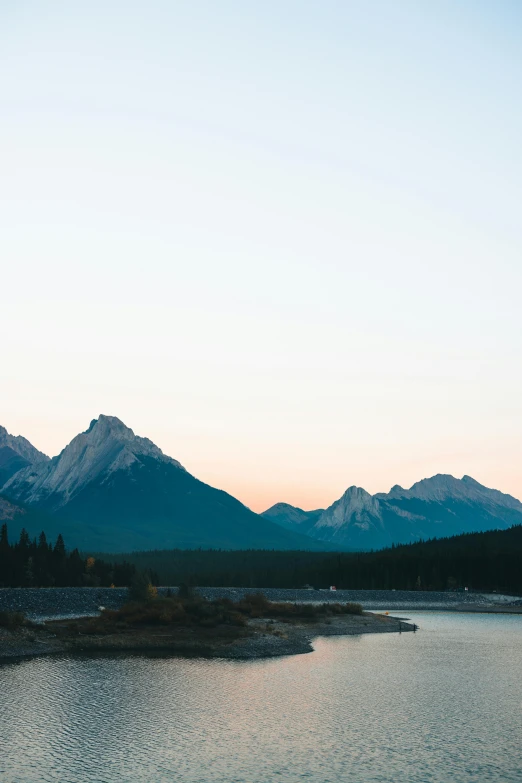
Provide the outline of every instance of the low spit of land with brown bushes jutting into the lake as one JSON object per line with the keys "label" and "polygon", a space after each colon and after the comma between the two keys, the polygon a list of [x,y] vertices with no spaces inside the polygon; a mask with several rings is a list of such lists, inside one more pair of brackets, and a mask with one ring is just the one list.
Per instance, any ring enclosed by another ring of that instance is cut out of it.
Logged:
{"label": "low spit of land with brown bushes jutting into the lake", "polygon": [[188,588],[158,596],[144,586],[117,610],[96,617],[34,623],[0,613],[0,659],[50,653],[159,652],[253,659],[312,652],[317,636],[413,631],[416,626],[364,612],[360,604],[207,600]]}

